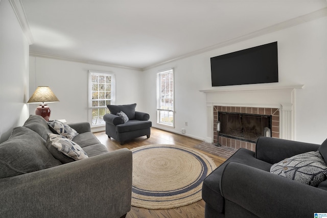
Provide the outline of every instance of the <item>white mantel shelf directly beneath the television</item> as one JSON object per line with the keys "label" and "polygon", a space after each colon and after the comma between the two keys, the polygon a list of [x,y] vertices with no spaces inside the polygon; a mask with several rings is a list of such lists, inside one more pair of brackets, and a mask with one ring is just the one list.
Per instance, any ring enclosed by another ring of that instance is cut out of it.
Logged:
{"label": "white mantel shelf directly beneath the television", "polygon": [[251,91],[251,90],[271,90],[271,89],[301,89],[304,85],[302,84],[292,84],[292,85],[276,85],[276,84],[264,84],[259,86],[248,86],[248,85],[238,85],[238,86],[221,86],[215,89],[200,90],[200,92],[222,92],[222,91]]}

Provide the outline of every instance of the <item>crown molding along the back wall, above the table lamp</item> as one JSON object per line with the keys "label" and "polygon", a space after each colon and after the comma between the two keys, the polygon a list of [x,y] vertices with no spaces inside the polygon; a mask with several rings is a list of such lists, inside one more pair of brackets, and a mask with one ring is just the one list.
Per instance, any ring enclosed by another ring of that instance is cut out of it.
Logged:
{"label": "crown molding along the back wall, above the table lamp", "polygon": [[101,65],[101,66],[109,66],[109,67],[116,67],[116,68],[132,69],[132,70],[142,71],[141,68],[136,68],[136,67],[121,66],[121,65],[116,65],[116,64],[110,64],[110,63],[107,63],[107,62],[89,61],[89,60],[69,58],[69,57],[64,57],[64,56],[37,53],[37,52],[30,52],[30,56],[39,57],[39,58],[51,58],[51,59],[56,59],[56,60],[61,60],[61,61],[72,61],[72,62],[78,62],[78,63],[84,63],[84,64],[94,64],[94,65]]}

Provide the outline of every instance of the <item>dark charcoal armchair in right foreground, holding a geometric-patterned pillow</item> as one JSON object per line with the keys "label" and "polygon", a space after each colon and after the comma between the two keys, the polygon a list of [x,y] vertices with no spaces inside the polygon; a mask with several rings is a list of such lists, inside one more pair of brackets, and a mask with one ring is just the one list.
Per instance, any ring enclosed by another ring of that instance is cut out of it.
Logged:
{"label": "dark charcoal armchair in right foreground, holding a geometric-patterned pillow", "polygon": [[[327,140],[319,146],[260,137],[256,142],[255,153],[246,149],[238,150],[203,181],[205,217],[304,218],[313,217],[317,212],[326,213],[325,169],[319,173],[321,182],[315,186],[303,184],[304,181],[294,181],[300,179],[297,176],[292,180],[270,173],[270,168],[274,169],[273,164],[275,167],[278,164],[291,164],[295,155],[317,150],[322,156],[322,164],[325,164]],[[282,167],[281,171],[290,172],[289,169]],[[313,178],[317,176],[318,173],[314,172]]]}

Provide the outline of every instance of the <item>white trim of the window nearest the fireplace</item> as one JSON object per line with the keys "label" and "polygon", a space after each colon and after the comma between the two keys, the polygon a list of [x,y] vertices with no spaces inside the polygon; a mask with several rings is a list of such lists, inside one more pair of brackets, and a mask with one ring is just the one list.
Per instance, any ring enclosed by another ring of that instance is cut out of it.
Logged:
{"label": "white trim of the window nearest the fireplace", "polygon": [[[160,89],[158,87],[158,76],[160,74],[165,74],[169,71],[172,71],[172,74],[173,74],[173,107],[170,109],[170,110],[164,110],[164,109],[159,109],[159,100],[161,99],[159,97],[159,95],[161,95],[160,93]],[[160,70],[157,72],[156,74],[156,98],[157,98],[157,101],[156,101],[156,111],[157,111],[157,125],[160,125],[160,126],[164,126],[164,127],[168,127],[168,128],[175,128],[175,73],[174,73],[174,68],[170,68],[170,69],[166,69],[166,70]],[[159,122],[159,111],[162,110],[162,111],[169,111],[169,112],[172,112],[173,113],[173,122],[172,122],[172,125],[169,125],[169,124],[165,124],[165,123],[160,123]]]}

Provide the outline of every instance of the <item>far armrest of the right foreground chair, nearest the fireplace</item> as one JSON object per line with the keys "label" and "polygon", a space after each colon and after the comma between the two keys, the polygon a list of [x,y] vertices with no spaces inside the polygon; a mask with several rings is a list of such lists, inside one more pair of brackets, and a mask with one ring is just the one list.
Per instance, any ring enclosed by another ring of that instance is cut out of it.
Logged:
{"label": "far armrest of the right foreground chair, nearest the fireplace", "polygon": [[317,151],[318,148],[319,144],[259,137],[256,141],[255,156],[257,159],[274,164],[297,154]]}

